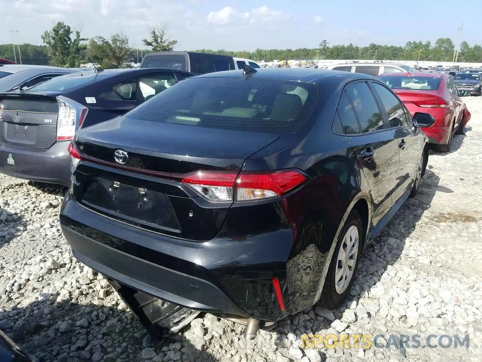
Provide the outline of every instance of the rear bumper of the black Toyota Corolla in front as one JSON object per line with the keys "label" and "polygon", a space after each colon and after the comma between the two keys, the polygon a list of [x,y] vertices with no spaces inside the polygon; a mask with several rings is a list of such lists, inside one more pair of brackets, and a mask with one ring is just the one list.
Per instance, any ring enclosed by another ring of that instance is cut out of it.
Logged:
{"label": "rear bumper of the black Toyota Corolla in front", "polygon": [[67,195],[62,232],[74,256],[99,273],[191,309],[276,321],[284,316],[271,277],[284,279],[291,230],[245,240],[193,242],[101,216]]}

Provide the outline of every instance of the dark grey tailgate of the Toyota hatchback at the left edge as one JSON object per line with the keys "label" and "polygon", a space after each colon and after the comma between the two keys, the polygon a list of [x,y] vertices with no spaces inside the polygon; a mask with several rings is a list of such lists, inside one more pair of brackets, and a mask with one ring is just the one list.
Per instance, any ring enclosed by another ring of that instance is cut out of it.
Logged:
{"label": "dark grey tailgate of the Toyota hatchback at the left edge", "polygon": [[48,149],[56,142],[56,95],[0,94],[0,142]]}

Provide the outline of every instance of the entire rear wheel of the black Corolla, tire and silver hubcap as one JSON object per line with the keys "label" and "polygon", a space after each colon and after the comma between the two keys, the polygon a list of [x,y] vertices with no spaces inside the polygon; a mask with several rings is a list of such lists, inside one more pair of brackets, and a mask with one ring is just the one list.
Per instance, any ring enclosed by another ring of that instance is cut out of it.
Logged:
{"label": "entire rear wheel of the black Corolla, tire and silver hubcap", "polygon": [[357,210],[352,210],[343,226],[335,247],[330,268],[325,278],[320,302],[334,309],[340,306],[350,292],[362,251],[362,221]]}

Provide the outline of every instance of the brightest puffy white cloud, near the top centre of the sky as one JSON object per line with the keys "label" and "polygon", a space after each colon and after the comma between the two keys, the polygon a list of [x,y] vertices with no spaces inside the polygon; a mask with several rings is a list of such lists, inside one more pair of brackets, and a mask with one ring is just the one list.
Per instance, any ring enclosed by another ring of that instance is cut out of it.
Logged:
{"label": "brightest puffy white cloud, near the top centre of the sky", "polygon": [[274,10],[268,6],[254,8],[247,12],[238,12],[231,6],[208,14],[207,21],[218,26],[253,24],[256,22],[276,22],[288,19],[289,15],[284,14],[281,10]]}

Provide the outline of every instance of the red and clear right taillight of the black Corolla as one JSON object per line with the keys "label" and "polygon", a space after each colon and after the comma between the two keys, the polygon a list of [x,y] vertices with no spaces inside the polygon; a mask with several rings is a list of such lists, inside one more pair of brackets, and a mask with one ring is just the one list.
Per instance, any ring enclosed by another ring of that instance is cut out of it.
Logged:
{"label": "red and clear right taillight of the black Corolla", "polygon": [[281,196],[307,180],[295,169],[267,172],[196,171],[181,182],[210,201],[255,201]]}

